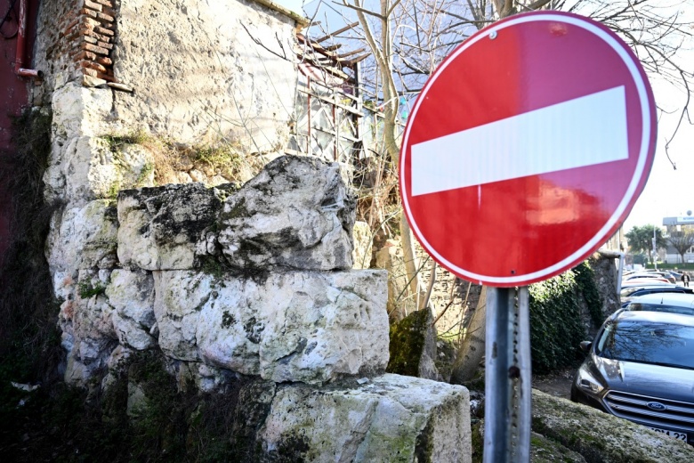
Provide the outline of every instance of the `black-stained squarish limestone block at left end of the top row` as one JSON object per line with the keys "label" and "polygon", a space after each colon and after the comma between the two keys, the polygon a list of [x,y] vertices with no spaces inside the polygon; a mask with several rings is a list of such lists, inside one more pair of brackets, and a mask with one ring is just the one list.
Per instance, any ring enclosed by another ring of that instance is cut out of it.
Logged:
{"label": "black-stained squarish limestone block at left end of the top row", "polygon": [[193,268],[196,246],[222,205],[222,190],[200,183],[118,193],[118,258],[144,270]]}

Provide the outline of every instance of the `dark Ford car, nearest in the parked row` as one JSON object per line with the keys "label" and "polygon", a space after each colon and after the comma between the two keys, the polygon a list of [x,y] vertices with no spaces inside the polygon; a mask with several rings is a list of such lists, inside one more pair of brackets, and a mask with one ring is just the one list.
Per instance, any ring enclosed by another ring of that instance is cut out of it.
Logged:
{"label": "dark Ford car, nearest in the parked row", "polygon": [[581,347],[572,401],[694,445],[694,317],[617,311]]}

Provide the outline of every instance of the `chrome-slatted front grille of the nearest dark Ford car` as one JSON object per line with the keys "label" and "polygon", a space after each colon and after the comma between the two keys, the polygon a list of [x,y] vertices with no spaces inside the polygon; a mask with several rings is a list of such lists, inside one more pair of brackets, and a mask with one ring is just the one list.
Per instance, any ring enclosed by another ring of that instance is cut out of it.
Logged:
{"label": "chrome-slatted front grille of the nearest dark Ford car", "polygon": [[[663,410],[653,410],[648,406],[654,402],[663,405]],[[694,431],[694,403],[610,391],[605,396],[605,404],[613,415],[620,418],[648,426]]]}

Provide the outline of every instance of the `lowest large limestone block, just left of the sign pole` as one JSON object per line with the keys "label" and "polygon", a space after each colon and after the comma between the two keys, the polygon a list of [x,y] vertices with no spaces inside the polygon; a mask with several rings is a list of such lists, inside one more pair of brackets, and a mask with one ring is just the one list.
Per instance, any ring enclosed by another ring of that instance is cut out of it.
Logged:
{"label": "lowest large limestone block, just left of the sign pole", "polygon": [[363,386],[279,386],[263,452],[320,462],[467,462],[470,398],[463,386],[383,375]]}

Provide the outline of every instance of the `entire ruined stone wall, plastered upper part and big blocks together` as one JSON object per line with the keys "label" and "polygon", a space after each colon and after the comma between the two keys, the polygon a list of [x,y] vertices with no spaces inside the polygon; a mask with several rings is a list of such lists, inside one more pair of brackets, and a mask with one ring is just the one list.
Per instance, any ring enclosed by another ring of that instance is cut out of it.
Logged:
{"label": "entire ruined stone wall, plastered upper part and big blocks together", "polygon": [[[66,382],[108,390],[128,358],[157,352],[200,391],[262,383],[254,442],[268,458],[298,435],[312,461],[468,461],[466,389],[383,374],[386,274],[352,270],[349,172],[278,158],[301,20],[266,2],[121,0],[109,86],[62,47],[61,14],[91,4],[44,4],[36,46],[46,78],[33,102],[52,112],[46,257]],[[275,159],[243,184],[190,183],[189,167],[180,184],[156,186],[157,153],[138,132]],[[137,402],[138,385],[128,390]]]}

